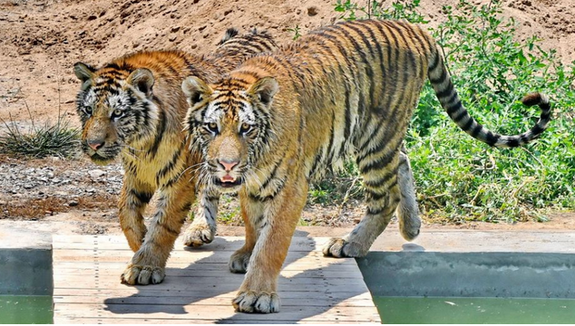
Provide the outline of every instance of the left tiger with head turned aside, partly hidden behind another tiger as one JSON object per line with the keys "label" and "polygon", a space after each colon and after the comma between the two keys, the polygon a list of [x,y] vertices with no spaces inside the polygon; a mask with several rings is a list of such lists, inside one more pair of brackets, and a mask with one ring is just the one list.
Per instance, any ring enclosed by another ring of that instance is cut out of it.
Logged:
{"label": "left tiger with head turned aside, partly hidden behind another tiger", "polygon": [[[100,69],[84,63],[74,66],[83,82],[77,97],[83,151],[99,164],[120,156],[125,170],[119,216],[136,254],[122,273],[124,283],[163,280],[166,261],[195,200],[193,180],[200,156],[186,150],[181,131],[187,110],[181,82],[190,74],[215,82],[250,55],[276,47],[266,33],[237,34],[229,29],[217,50],[203,57],[180,51],[141,52]],[[157,190],[158,210],[148,231],[142,214]],[[186,242],[209,243],[215,217],[201,210]]]}

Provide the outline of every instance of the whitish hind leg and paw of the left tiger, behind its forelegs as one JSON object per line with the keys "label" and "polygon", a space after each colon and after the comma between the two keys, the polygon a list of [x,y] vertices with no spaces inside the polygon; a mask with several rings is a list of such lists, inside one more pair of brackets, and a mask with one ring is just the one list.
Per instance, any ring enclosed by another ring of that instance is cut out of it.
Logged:
{"label": "whitish hind leg and paw of the left tiger, behind its forelegs", "polygon": [[184,245],[199,247],[210,244],[216,236],[219,194],[203,190],[200,193],[198,213],[188,229],[184,232]]}

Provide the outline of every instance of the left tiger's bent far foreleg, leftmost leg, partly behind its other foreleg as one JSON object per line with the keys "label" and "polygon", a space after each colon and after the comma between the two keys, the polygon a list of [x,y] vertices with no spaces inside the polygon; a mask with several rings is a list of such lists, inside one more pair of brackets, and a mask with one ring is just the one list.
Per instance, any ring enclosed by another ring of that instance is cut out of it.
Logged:
{"label": "left tiger's bent far foreleg, leftmost leg, partly behind its other foreleg", "polygon": [[124,177],[118,216],[122,232],[134,253],[140,249],[146,235],[143,213],[155,190],[154,187],[138,182],[130,174]]}

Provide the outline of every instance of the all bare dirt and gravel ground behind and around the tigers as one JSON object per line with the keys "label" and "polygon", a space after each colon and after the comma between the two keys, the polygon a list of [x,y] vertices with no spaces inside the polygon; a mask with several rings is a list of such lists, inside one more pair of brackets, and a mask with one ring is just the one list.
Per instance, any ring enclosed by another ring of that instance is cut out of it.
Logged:
{"label": "all bare dirt and gravel ground behind and around the tigers", "polygon": [[[22,129],[65,112],[73,124],[79,89],[73,63],[100,65],[141,50],[181,49],[208,53],[231,27],[267,29],[287,43],[300,33],[335,22],[335,0],[0,0],[0,118]],[[362,3],[362,0],[358,1]],[[366,1],[365,1],[366,2]],[[488,0],[473,0],[477,5]],[[386,0],[389,5],[391,0]],[[422,1],[432,25],[445,19],[442,5],[457,0]],[[562,62],[575,60],[575,6],[571,0],[504,0],[504,15],[519,24],[521,38],[537,34],[544,49],[555,48]],[[30,110],[28,112],[26,107]],[[0,128],[2,132],[2,128]],[[87,234],[108,232],[116,223],[115,203],[122,168],[96,167],[85,158],[22,160],[0,157],[0,219],[67,219]],[[309,205],[304,225],[354,225],[363,206]],[[223,203],[224,222],[235,224],[237,202]],[[337,216],[334,218],[334,216]],[[478,229],[575,229],[575,216],[551,214],[547,223],[434,225]]]}

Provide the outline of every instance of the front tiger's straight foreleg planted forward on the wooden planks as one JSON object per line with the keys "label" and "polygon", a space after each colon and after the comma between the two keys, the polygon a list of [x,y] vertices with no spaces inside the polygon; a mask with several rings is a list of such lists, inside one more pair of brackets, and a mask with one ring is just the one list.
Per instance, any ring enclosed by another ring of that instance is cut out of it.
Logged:
{"label": "front tiger's straight foreleg planted forward on the wooden planks", "polygon": [[299,182],[286,185],[276,197],[267,198],[262,218],[250,221],[258,232],[258,240],[249,259],[248,273],[232,301],[237,312],[279,312],[278,276],[306,196],[307,181],[302,177]]}

